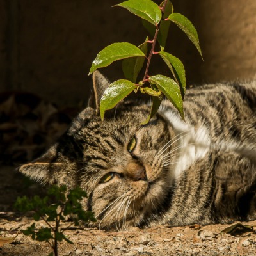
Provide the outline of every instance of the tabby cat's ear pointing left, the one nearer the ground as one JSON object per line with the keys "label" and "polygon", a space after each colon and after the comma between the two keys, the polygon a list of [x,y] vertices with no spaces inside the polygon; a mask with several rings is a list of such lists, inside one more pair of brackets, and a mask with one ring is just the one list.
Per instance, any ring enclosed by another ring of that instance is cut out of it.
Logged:
{"label": "tabby cat's ear pointing left, the one nearer the ground", "polygon": [[56,183],[54,173],[63,168],[63,164],[56,161],[57,147],[58,144],[53,145],[43,156],[31,163],[20,166],[18,168],[19,172],[41,184]]}

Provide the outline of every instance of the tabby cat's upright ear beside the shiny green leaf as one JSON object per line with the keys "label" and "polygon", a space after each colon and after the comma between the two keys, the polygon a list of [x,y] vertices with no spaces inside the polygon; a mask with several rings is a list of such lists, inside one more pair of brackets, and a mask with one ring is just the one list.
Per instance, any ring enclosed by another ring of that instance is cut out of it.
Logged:
{"label": "tabby cat's upright ear beside the shiny green leaf", "polygon": [[100,99],[105,92],[106,88],[109,86],[109,80],[104,77],[99,71],[93,72],[93,93],[88,101],[88,106],[94,108],[96,115],[99,115],[100,110]]}

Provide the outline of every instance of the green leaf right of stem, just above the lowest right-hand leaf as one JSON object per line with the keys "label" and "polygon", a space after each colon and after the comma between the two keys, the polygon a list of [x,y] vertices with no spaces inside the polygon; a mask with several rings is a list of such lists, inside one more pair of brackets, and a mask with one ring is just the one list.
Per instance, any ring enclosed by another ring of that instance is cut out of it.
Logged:
{"label": "green leaf right of stem, just above the lowest right-hand leaf", "polygon": [[164,62],[170,68],[176,82],[180,84],[180,92],[182,95],[182,99],[184,99],[184,95],[186,92],[186,74],[184,65],[177,57],[173,56],[168,52],[161,51],[158,52],[158,54],[163,58]]}

